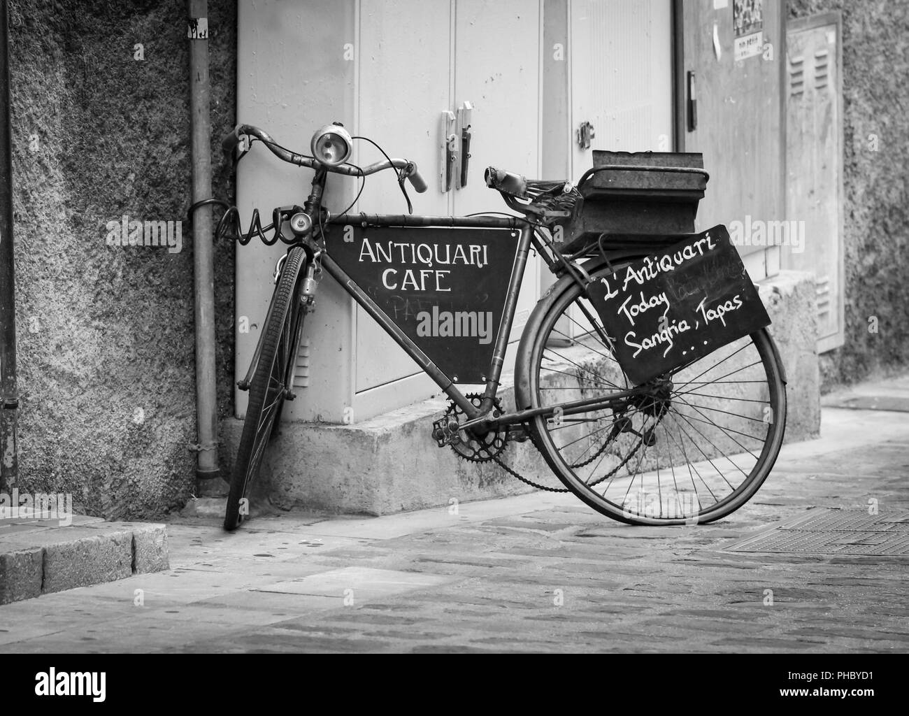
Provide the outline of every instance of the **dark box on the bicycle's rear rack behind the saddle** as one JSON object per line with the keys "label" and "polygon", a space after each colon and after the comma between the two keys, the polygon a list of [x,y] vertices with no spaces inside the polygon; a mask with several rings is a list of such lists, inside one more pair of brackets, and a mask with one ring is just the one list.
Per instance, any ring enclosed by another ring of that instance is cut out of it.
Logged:
{"label": "dark box on the bicycle's rear rack behind the saddle", "polygon": [[703,154],[594,150],[592,173],[579,187],[584,206],[563,252],[593,253],[604,232],[611,247],[615,241],[646,243],[644,236],[694,233],[707,179]]}

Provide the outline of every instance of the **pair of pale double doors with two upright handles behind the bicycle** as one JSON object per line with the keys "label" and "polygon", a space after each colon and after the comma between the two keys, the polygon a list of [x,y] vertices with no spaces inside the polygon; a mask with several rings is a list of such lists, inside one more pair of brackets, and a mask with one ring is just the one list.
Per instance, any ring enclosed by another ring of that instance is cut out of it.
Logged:
{"label": "pair of pale double doors with two upright handles behind the bicycle", "polygon": [[[419,28],[397,42],[402,28]],[[495,165],[530,178],[540,169],[540,8],[528,0],[361,0],[358,65],[359,134],[393,155],[415,160],[429,189],[410,192],[415,214],[507,211],[484,184]],[[443,193],[440,115],[474,107],[468,181]],[[355,161],[379,158],[359,143]],[[368,180],[358,209],[405,213],[394,175]],[[537,264],[524,273],[512,340],[538,297]],[[363,420],[439,393],[416,363],[363,311],[356,309],[355,416]],[[508,358],[506,357],[506,364]]]}

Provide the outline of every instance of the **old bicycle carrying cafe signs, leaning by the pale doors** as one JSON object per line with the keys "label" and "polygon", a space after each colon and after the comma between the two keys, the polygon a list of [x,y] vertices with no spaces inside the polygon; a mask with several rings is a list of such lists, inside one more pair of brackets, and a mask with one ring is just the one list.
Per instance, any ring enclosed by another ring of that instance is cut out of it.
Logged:
{"label": "old bicycle carrying cafe signs, leaning by the pale doors", "polygon": [[[381,147],[383,161],[350,164],[355,139],[365,138],[329,124],[314,134],[312,154],[298,154],[253,125],[237,125],[222,143],[225,157],[236,162],[264,144],[279,159],[314,170],[305,203],[275,209],[267,226],[255,212],[246,232],[236,207],[225,202],[208,199],[190,210],[223,207],[218,236],[288,246],[275,266],[265,329],[238,383],[249,403],[226,530],[244,521],[269,438],[284,402],[295,397],[295,355],[325,273],[448,396],[445,414],[427,431],[437,446],[466,460],[497,462],[553,490],[503,461],[509,443],[529,439],[564,484],[556,492],[573,492],[631,524],[711,522],[754,495],[783,443],[784,370],[763,304],[722,226],[702,234],[693,233],[693,224],[687,232],[654,232],[647,228],[653,217],[645,215],[653,207],[634,203],[624,210],[632,222],[640,218],[643,231],[610,232],[608,217],[596,225],[597,181],[608,189],[616,175],[647,170],[634,164],[635,155],[632,164],[594,167],[576,186],[490,167],[486,183],[510,213],[360,214],[348,207],[332,215],[323,206],[331,173],[365,184],[366,176],[395,172],[408,207],[405,181],[418,193],[427,188],[413,162]],[[662,164],[658,171],[670,180],[706,181],[696,166]],[[363,186],[357,200],[362,192]],[[593,211],[586,219],[585,201]],[[497,393],[531,251],[555,282],[524,326],[515,404],[505,406]],[[392,310],[402,291],[422,310]],[[756,306],[750,318],[743,302]],[[484,391],[462,393],[465,383]]]}

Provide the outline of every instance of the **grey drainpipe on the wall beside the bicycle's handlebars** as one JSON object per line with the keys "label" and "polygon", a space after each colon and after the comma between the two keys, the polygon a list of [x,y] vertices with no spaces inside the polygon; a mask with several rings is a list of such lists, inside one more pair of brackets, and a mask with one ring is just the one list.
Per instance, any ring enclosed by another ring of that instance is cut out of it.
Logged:
{"label": "grey drainpipe on the wall beside the bicycle's handlebars", "polygon": [[[189,93],[193,128],[193,203],[212,195],[212,125],[208,115],[208,4],[188,0]],[[195,414],[199,444],[196,481],[219,477],[218,415],[215,385],[215,267],[212,245],[212,209],[193,213],[195,263]],[[200,492],[201,492],[201,485]]]}

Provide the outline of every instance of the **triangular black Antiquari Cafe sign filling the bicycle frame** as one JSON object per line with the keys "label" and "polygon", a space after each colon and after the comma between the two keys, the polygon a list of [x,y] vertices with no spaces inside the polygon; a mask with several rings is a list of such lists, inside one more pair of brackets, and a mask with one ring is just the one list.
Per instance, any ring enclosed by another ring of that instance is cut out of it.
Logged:
{"label": "triangular black Antiquari Cafe sign filling the bicycle frame", "polygon": [[333,228],[335,261],[458,383],[484,383],[519,234],[512,229]]}

